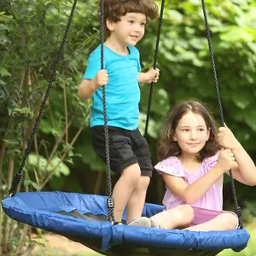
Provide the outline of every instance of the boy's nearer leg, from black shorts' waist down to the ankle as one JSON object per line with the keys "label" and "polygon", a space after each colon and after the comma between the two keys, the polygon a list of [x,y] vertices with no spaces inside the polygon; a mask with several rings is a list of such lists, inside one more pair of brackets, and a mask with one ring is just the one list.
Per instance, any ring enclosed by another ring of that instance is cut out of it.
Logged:
{"label": "boy's nearer leg, from black shorts' waist down to the ankle", "polygon": [[[95,126],[91,130],[93,148],[106,162],[104,127]],[[108,138],[111,170],[120,176],[113,188],[114,220],[120,222],[131,192],[141,177],[141,170],[131,149],[129,131],[108,126]]]}

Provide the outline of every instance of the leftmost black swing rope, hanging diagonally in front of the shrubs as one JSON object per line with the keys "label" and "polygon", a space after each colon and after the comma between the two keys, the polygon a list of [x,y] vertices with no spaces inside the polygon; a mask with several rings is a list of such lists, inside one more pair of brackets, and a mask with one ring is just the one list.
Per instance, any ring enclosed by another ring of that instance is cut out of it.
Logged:
{"label": "leftmost black swing rope, hanging diagonally in front of the shrubs", "polygon": [[11,189],[9,189],[9,196],[15,196],[15,194],[17,192],[18,185],[19,185],[20,180],[22,178],[23,168],[25,166],[27,156],[30,153],[32,142],[34,140],[36,131],[38,129],[38,125],[40,123],[40,119],[42,118],[42,115],[44,113],[45,103],[46,103],[46,101],[47,101],[47,99],[49,97],[49,90],[50,90],[51,85],[53,84],[53,82],[55,80],[55,75],[57,73],[57,68],[59,67],[59,63],[61,61],[62,51],[63,51],[65,43],[66,43],[67,34],[68,34],[68,31],[69,31],[69,27],[71,26],[71,23],[72,23],[72,20],[73,20],[73,13],[74,13],[74,10],[76,8],[77,2],[78,2],[78,0],[74,0],[74,2],[73,2],[73,8],[71,10],[71,14],[70,14],[68,22],[67,22],[67,28],[65,30],[65,34],[64,34],[64,37],[63,37],[62,42],[61,42],[61,46],[60,46],[59,51],[58,51],[57,59],[55,61],[55,67],[54,67],[54,70],[53,70],[53,72],[51,74],[51,78],[49,80],[49,84],[48,84],[48,87],[47,87],[47,90],[46,90],[46,93],[45,93],[45,96],[44,96],[44,101],[41,104],[41,108],[40,108],[40,111],[38,113],[38,118],[36,119],[36,123],[34,125],[33,130],[32,130],[32,136],[30,137],[30,140],[29,140],[29,142],[27,144],[27,147],[26,147],[25,155],[24,155],[24,157],[23,157],[23,159],[21,161],[21,164],[20,164],[20,169],[19,169],[19,171],[15,175],[15,178],[14,178],[14,181],[12,183]]}

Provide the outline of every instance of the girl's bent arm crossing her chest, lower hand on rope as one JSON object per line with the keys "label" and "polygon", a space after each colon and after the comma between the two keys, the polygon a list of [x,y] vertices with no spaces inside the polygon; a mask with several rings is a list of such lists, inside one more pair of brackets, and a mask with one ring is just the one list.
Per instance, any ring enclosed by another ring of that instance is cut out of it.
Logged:
{"label": "girl's bent arm crossing her chest, lower hand on rope", "polygon": [[191,204],[205,195],[208,189],[223,176],[224,172],[237,166],[232,155],[230,149],[222,148],[216,166],[190,185],[184,181],[183,177],[176,177],[162,172],[166,186],[184,202]]}

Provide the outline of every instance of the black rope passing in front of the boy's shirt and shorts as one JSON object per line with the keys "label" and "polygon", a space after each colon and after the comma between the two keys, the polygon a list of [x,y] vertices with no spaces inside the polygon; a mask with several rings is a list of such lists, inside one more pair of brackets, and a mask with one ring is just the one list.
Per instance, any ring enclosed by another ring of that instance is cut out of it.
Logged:
{"label": "black rope passing in front of the boy's shirt and shorts", "polygon": [[[105,17],[104,17],[104,0],[100,3],[101,10],[101,69],[104,69],[104,38],[105,38]],[[111,183],[111,169],[110,169],[110,157],[109,157],[109,140],[108,140],[108,117],[107,117],[107,104],[106,104],[106,90],[105,86],[102,87],[102,102],[104,113],[104,135],[105,135],[105,149],[107,159],[107,175],[108,175],[108,221],[114,222],[113,207],[114,201],[112,196],[112,183]]]}

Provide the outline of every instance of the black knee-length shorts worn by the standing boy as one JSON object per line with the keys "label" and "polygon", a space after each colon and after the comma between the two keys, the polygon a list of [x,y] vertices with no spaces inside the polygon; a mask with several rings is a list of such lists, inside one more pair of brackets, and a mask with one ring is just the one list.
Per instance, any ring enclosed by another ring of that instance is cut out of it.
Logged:
{"label": "black knee-length shorts worn by the standing boy", "polygon": [[[106,163],[104,126],[94,126],[92,146]],[[146,139],[140,131],[108,126],[110,166],[113,172],[122,172],[126,167],[138,164],[142,175],[152,177],[153,166]]]}

